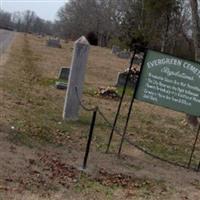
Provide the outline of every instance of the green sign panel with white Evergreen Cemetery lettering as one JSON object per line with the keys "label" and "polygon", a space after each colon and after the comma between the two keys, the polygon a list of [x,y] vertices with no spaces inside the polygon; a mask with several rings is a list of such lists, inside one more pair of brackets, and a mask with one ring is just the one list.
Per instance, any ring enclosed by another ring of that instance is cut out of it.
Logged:
{"label": "green sign panel with white Evergreen Cemetery lettering", "polygon": [[200,116],[200,63],[148,50],[136,99]]}

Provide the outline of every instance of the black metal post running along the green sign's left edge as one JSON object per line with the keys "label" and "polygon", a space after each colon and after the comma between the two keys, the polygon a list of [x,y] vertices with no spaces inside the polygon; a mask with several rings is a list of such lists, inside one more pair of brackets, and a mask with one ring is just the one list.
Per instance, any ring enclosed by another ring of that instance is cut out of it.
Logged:
{"label": "black metal post running along the green sign's left edge", "polygon": [[146,52],[147,52],[147,49],[145,50],[145,54],[144,54],[144,57],[143,57],[143,60],[142,60],[142,65],[141,65],[139,77],[138,77],[138,80],[137,80],[137,83],[136,83],[136,86],[135,86],[135,91],[133,92],[133,96],[132,96],[131,103],[130,103],[130,106],[129,106],[129,111],[128,111],[126,123],[125,123],[125,126],[124,126],[124,132],[123,132],[122,139],[121,139],[120,146],[119,146],[118,156],[120,156],[120,154],[121,154],[122,145],[123,145],[123,142],[124,142],[124,139],[125,139],[125,136],[126,136],[126,132],[127,132],[127,128],[128,128],[128,122],[129,122],[129,119],[130,119],[130,116],[131,116],[133,103],[134,103],[134,100],[135,100],[135,97],[136,97],[136,94],[137,94],[137,89],[138,89],[138,86],[139,86],[140,77],[141,77],[141,74],[142,74],[142,71],[143,71],[144,61],[145,61],[145,58],[146,58]]}

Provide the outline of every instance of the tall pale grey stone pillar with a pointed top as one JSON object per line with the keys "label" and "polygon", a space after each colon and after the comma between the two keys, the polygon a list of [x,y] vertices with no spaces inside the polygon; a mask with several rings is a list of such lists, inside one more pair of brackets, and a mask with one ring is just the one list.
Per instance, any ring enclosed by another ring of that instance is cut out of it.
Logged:
{"label": "tall pale grey stone pillar with a pointed top", "polygon": [[84,36],[74,43],[69,84],[63,110],[63,118],[67,120],[78,119],[89,47],[90,45]]}

